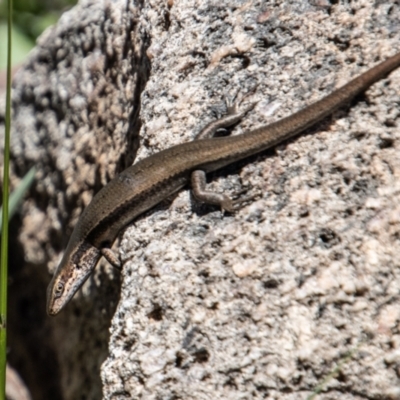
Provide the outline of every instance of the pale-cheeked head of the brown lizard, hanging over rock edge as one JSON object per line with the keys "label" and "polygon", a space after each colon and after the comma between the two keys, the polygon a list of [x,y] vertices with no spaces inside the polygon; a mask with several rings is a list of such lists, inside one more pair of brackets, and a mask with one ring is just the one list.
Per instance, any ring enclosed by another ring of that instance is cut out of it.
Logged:
{"label": "pale-cheeked head of the brown lizard, hanging over rock edge", "polygon": [[68,246],[47,288],[47,314],[56,315],[85,283],[101,257],[100,251],[87,242]]}

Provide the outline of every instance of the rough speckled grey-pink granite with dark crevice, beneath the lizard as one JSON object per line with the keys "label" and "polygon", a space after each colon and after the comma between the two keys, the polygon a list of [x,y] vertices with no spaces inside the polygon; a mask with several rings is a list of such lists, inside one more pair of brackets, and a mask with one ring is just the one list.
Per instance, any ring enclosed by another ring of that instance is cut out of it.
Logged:
{"label": "rough speckled grey-pink granite with dark crevice, beneath the lizard", "polygon": [[[223,94],[255,85],[234,134],[286,116],[399,51],[399,22],[398,6],[367,0],[82,2],[16,79],[14,171],[38,166],[26,265],[45,280],[139,136],[136,159],[191,140]],[[399,398],[399,93],[395,71],[210,176],[217,191],[261,192],[235,215],[183,190],[126,229],[118,305],[104,263],[59,317],[40,317],[62,398],[99,398],[103,360],[105,399],[306,398],[351,350],[320,398]]]}

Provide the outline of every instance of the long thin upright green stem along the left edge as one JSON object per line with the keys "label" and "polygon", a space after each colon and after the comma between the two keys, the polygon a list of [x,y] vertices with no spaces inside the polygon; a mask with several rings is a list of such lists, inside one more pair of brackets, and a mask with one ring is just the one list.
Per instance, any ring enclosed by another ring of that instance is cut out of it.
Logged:
{"label": "long thin upright green stem along the left edge", "polygon": [[7,26],[7,92],[6,119],[4,135],[3,172],[3,224],[1,232],[0,259],[0,400],[6,398],[6,351],[7,351],[7,281],[8,281],[8,188],[10,164],[10,126],[11,126],[11,28],[12,0],[8,0]]}

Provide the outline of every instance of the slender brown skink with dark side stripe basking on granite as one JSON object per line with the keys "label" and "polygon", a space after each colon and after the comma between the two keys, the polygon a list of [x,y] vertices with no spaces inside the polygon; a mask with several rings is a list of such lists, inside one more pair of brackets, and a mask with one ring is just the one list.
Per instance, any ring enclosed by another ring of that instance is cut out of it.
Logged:
{"label": "slender brown skink with dark side stripe basking on granite", "polygon": [[255,103],[243,110],[238,104],[231,105],[227,114],[208,124],[196,140],[162,150],[121,172],[93,197],[81,214],[47,289],[48,315],[56,315],[64,308],[101,257],[114,267],[121,267],[111,246],[120,230],[137,216],[189,182],[196,200],[234,211],[241,201],[207,191],[207,173],[300,134],[399,66],[397,53],[288,117],[241,135],[213,137],[219,129],[239,122]]}

